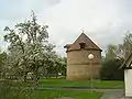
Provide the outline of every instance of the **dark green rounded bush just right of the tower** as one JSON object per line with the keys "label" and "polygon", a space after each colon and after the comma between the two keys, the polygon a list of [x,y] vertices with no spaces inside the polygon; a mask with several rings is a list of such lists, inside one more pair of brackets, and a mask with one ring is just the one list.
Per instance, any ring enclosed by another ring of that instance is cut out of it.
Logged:
{"label": "dark green rounded bush just right of the tower", "polygon": [[102,80],[123,80],[123,69],[119,69],[123,58],[106,61],[100,69]]}

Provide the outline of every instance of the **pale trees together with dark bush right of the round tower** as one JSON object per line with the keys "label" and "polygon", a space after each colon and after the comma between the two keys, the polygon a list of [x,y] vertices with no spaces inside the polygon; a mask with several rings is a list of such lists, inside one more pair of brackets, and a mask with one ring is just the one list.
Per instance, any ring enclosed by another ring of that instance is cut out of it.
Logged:
{"label": "pale trees together with dark bush right of the round tower", "polygon": [[120,66],[131,53],[132,34],[128,32],[121,44],[108,45],[106,56],[102,59],[100,78],[107,80],[123,80],[123,69],[121,69]]}

